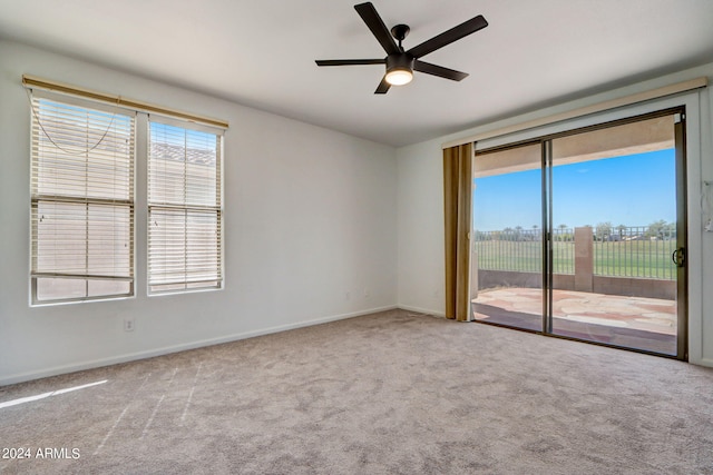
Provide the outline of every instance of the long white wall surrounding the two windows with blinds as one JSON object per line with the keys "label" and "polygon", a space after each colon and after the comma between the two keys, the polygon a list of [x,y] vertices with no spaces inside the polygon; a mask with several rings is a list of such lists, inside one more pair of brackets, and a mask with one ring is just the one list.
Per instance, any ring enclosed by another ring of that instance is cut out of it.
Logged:
{"label": "long white wall surrounding the two windows with blinds", "polygon": [[[147,297],[145,211],[137,209],[135,298],[29,306],[23,73],[229,121],[224,290]],[[391,147],[0,42],[0,385],[397,304]],[[123,330],[126,317],[135,331]]]}

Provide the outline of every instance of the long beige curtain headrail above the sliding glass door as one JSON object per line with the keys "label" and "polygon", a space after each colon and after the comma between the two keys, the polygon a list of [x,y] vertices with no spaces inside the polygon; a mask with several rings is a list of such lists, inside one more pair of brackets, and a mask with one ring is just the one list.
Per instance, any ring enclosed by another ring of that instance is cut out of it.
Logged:
{"label": "long beige curtain headrail above the sliding glass door", "polygon": [[577,109],[567,110],[565,112],[555,113],[553,116],[541,117],[539,119],[528,120],[526,122],[516,123],[514,126],[501,127],[487,132],[473,133],[460,139],[450,140],[441,144],[441,148],[457,147],[459,145],[475,142],[478,140],[490,139],[506,133],[519,132],[521,130],[533,129],[535,127],[546,126],[576,117],[587,116],[589,113],[602,112],[604,110],[615,109],[617,107],[631,106],[645,100],[658,99],[665,96],[672,96],[678,92],[685,92],[693,89],[705,88],[709,83],[706,77],[695,78],[675,85],[664,86],[662,88],[652,89],[649,91],[637,92],[635,95],[622,98],[606,100],[604,102],[594,103],[592,106],[579,107]]}

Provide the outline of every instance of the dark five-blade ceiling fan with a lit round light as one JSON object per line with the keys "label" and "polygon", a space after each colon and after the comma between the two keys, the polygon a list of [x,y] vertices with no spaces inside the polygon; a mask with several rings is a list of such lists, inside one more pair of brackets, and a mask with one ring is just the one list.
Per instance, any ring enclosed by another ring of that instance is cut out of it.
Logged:
{"label": "dark five-blade ceiling fan with a lit round light", "polygon": [[[354,6],[367,27],[377,37],[381,47],[387,51],[383,59],[326,59],[316,60],[318,66],[353,66],[353,65],[387,65],[387,73],[374,93],[383,95],[389,91],[391,86],[402,86],[411,82],[413,71],[426,72],[427,75],[438,76],[453,81],[460,81],[468,77],[468,73],[443,68],[442,66],[431,65],[421,61],[420,58],[436,51],[447,44],[458,41],[459,39],[475,33],[488,26],[488,22],[481,14],[460,23],[457,27],[445,31],[430,40],[423,41],[408,51],[403,50],[401,42],[411,30],[408,24],[397,24],[389,29],[377,12],[371,2],[359,3]],[[399,44],[394,41],[398,40]]]}

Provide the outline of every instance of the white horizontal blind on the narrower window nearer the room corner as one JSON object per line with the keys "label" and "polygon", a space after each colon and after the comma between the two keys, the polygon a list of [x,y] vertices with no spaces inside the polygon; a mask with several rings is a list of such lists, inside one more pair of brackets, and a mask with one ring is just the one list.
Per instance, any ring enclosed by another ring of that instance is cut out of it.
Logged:
{"label": "white horizontal blind on the narrower window nearer the room corner", "polygon": [[222,133],[149,119],[150,293],[223,284]]}

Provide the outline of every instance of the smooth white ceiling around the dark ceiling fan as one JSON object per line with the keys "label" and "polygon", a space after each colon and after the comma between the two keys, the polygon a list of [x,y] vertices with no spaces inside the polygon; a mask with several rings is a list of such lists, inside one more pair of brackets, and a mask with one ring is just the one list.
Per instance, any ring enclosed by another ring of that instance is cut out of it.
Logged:
{"label": "smooth white ceiling around the dark ceiling fan", "polygon": [[385,56],[358,2],[0,0],[0,38],[392,146],[713,61],[713,0],[373,0],[407,49],[490,23],[423,58],[463,81],[417,72],[377,96],[383,67],[314,63]]}

